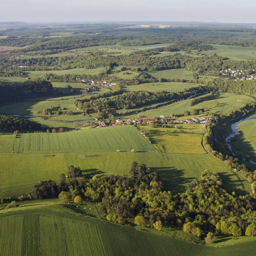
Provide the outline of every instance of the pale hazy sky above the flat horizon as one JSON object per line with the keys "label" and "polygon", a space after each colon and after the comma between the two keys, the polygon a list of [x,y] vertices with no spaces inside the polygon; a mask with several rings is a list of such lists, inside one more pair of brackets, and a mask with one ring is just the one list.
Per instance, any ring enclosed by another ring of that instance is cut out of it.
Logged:
{"label": "pale hazy sky above the flat horizon", "polygon": [[0,21],[256,23],[255,0],[0,0]]}

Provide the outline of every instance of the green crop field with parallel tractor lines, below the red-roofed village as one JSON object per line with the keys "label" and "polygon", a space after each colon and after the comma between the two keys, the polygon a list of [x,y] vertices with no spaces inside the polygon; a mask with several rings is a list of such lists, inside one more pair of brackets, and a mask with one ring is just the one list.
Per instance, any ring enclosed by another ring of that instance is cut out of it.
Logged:
{"label": "green crop field with parallel tractor lines, below the red-roofed village", "polygon": [[153,146],[133,126],[95,128],[77,132],[20,134],[14,152],[149,151]]}

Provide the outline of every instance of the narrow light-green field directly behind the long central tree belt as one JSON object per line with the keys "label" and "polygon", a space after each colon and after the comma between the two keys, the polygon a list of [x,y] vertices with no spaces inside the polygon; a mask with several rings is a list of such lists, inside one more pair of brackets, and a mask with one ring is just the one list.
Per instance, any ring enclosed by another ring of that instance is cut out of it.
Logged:
{"label": "narrow light-green field directly behind the long central tree belt", "polygon": [[188,89],[191,87],[197,87],[201,84],[192,84],[192,83],[178,83],[178,82],[164,82],[164,83],[148,83],[148,84],[138,84],[138,85],[129,85],[125,87],[125,90],[128,92],[146,90],[149,92],[181,92],[184,91],[184,88]]}

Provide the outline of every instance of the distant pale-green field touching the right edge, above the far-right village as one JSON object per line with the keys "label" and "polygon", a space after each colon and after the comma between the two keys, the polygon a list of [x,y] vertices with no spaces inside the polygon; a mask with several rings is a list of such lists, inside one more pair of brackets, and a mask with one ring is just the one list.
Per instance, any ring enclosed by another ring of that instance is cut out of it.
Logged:
{"label": "distant pale-green field touching the right edge, above the far-right village", "polygon": [[256,60],[256,47],[211,44],[215,49],[203,51],[204,54],[218,54],[234,60]]}

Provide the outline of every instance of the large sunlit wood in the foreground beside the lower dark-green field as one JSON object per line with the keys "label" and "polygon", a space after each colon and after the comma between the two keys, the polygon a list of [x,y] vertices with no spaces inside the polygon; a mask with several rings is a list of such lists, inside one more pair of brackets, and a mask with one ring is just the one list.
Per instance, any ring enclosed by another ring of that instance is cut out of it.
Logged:
{"label": "large sunlit wood in the foreground beside the lower dark-green field", "polygon": [[[52,180],[40,182],[30,196],[40,199],[58,194],[63,202],[100,203],[103,215],[120,224],[134,217],[139,226],[158,230],[170,226],[183,228],[198,238],[207,232],[234,237],[256,235],[255,196],[229,194],[222,188],[218,174],[208,170],[189,184],[184,193],[174,195],[163,190],[158,173],[137,162],[133,162],[129,177],[96,174],[86,178],[80,168],[70,166],[67,175],[61,174],[58,186]],[[115,213],[109,214],[110,210]],[[207,237],[210,242],[211,234]]]}

